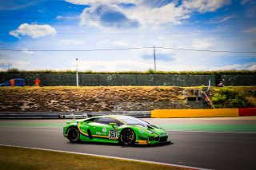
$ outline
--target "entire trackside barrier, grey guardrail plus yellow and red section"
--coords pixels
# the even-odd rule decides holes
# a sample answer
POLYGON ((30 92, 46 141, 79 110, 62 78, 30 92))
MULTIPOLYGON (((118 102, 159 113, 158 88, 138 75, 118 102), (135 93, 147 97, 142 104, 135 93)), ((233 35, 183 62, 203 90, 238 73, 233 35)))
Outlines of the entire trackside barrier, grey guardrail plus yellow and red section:
POLYGON ((120 112, 0 112, 0 119, 59 119, 82 118, 83 115, 96 117, 101 115, 126 115, 138 118, 181 118, 181 117, 246 117, 256 116, 256 108, 242 109, 161 109, 153 111, 120 112))

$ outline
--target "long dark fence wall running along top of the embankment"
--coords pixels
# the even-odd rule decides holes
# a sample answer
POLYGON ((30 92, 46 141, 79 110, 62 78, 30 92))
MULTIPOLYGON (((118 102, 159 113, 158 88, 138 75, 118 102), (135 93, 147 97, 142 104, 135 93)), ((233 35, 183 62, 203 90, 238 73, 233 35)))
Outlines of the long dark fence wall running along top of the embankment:
MULTIPOLYGON (((34 85, 39 78, 41 85, 76 85, 76 75, 70 73, 0 73, 0 82, 11 78, 25 78, 27 85, 34 85)), ((225 85, 256 85, 256 75, 174 75, 174 74, 79 74, 79 85, 166 85, 198 86, 216 85, 225 79, 225 85)))

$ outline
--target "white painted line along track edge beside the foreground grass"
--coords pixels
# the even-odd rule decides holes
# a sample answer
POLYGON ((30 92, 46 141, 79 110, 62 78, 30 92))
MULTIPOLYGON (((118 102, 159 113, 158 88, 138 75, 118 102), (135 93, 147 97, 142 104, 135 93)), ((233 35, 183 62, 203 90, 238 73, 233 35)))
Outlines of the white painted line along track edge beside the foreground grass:
POLYGON ((179 168, 192 168, 192 169, 202 169, 202 170, 208 170, 206 168, 198 168, 198 167, 190 167, 190 166, 184 166, 180 164, 167 164, 162 162, 154 162, 150 160, 135 160, 130 158, 123 158, 123 157, 116 157, 116 156, 102 156, 102 155, 96 155, 96 154, 90 154, 90 153, 82 153, 82 152, 69 152, 69 151, 61 151, 61 150, 54 150, 49 148, 31 148, 26 146, 14 146, 14 145, 8 145, 8 144, 0 144, 0 146, 8 146, 8 147, 14 147, 14 148, 30 148, 30 149, 36 149, 36 150, 42 150, 42 151, 52 151, 52 152, 64 152, 64 153, 71 153, 71 154, 77 154, 77 155, 83 155, 83 156, 97 156, 97 157, 104 157, 104 158, 112 158, 116 160, 130 160, 130 161, 136 161, 136 162, 143 162, 148 164, 161 164, 166 166, 173 166, 173 167, 179 167, 179 168))

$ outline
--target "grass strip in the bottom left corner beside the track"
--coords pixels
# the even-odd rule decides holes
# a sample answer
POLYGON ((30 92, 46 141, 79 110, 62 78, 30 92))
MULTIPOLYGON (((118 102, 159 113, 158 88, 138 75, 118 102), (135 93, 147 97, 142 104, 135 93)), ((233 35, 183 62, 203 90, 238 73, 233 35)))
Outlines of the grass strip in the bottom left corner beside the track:
POLYGON ((83 156, 65 152, 0 146, 0 167, 9 169, 185 169, 160 164, 118 160, 99 156, 83 156))

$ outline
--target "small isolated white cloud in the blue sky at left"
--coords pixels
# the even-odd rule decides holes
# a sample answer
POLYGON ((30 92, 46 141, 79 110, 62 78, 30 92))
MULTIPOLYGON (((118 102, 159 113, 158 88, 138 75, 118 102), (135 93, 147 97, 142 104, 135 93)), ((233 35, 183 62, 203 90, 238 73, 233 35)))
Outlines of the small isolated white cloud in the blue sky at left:
POLYGON ((57 31, 49 25, 27 24, 18 26, 17 30, 10 31, 10 35, 20 38, 20 35, 28 35, 32 38, 40 38, 47 35, 54 35, 57 31))

